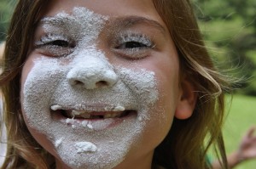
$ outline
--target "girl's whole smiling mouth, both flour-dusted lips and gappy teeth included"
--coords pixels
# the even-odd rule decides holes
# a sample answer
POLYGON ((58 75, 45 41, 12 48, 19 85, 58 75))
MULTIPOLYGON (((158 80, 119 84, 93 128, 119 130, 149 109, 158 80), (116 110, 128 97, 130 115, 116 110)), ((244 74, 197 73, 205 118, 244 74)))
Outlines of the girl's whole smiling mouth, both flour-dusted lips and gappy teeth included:
POLYGON ((125 110, 123 106, 73 106, 65 107, 54 104, 50 112, 55 121, 83 127, 104 129, 125 120, 137 118, 137 110, 125 110), (100 127, 101 126, 101 127, 100 127))

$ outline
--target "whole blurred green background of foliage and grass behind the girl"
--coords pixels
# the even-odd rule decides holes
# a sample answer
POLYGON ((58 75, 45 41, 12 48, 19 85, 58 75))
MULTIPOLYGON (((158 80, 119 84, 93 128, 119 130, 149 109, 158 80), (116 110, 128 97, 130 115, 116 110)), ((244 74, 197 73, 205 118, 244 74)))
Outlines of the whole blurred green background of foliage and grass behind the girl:
MULTIPOLYGON (((233 98, 227 94, 224 141, 229 154, 247 129, 256 125, 256 0, 191 1, 212 59, 220 70, 243 79, 233 98)), ((14 4, 0 0, 0 42, 6 37, 14 4)), ((253 168, 256 159, 236 167, 253 168)))

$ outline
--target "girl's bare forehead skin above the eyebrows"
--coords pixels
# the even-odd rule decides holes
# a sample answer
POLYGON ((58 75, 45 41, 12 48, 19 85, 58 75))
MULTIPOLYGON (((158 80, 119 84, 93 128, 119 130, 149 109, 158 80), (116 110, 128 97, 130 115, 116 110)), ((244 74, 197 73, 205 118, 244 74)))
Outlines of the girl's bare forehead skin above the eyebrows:
MULTIPOLYGON (((55 16, 61 12, 72 14, 73 8, 78 7, 88 8, 95 14, 101 14, 109 18, 131 15, 140 16, 155 20, 163 27, 166 27, 154 8, 152 0, 54 0, 47 5, 43 17, 55 16)), ((95 17, 95 15, 91 15, 91 17, 95 17)))

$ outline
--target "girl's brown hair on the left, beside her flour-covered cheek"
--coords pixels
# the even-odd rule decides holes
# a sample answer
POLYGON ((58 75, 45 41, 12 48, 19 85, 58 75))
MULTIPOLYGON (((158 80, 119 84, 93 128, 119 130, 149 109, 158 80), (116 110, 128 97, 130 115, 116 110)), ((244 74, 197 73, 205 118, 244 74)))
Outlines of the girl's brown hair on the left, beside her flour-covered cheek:
POLYGON ((47 1, 20 1, 9 25, 0 77, 8 140, 3 168, 48 168, 46 153, 28 132, 20 112, 20 73, 36 27, 35 21, 45 4, 47 1))

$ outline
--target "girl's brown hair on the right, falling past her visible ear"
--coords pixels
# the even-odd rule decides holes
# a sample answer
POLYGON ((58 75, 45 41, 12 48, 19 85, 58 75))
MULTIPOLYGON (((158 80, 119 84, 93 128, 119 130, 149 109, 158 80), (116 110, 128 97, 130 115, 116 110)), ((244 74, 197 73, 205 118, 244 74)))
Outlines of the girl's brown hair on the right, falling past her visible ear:
POLYGON ((182 72, 198 94, 193 115, 188 120, 174 119, 155 150, 154 161, 167 168, 209 168, 207 150, 213 144, 222 167, 228 168, 221 128, 229 83, 212 64, 189 0, 154 0, 154 5, 171 33, 182 72))

